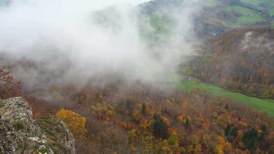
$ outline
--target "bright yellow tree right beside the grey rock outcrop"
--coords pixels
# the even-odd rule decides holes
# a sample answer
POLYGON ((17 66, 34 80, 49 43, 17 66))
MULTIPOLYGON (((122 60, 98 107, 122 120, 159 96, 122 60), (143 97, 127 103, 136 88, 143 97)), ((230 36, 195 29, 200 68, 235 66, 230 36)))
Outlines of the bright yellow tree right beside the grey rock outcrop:
POLYGON ((81 138, 86 134, 86 118, 82 115, 68 109, 60 109, 56 113, 56 117, 66 123, 74 137, 81 138))

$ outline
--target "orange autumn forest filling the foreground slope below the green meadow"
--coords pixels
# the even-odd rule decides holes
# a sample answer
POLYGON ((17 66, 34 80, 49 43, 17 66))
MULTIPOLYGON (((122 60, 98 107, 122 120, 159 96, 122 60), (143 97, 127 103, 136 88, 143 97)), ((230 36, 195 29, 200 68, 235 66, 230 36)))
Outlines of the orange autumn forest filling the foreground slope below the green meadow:
POLYGON ((27 96, 5 69, 1 81, 1 98, 22 96, 36 120, 56 114, 66 122, 77 153, 274 152, 273 119, 202 89, 188 94, 120 80, 104 88, 52 87, 59 101, 46 102, 27 96))

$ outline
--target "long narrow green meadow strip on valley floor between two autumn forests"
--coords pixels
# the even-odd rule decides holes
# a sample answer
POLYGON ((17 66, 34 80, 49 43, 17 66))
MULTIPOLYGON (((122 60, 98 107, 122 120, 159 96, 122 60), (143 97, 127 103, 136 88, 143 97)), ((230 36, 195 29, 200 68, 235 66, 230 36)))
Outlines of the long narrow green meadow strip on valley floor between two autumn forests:
POLYGON ((268 113, 269 117, 274 117, 274 100, 273 99, 259 99, 255 97, 249 97, 241 93, 234 93, 222 88, 204 84, 196 81, 179 81, 178 79, 173 79, 173 83, 180 89, 190 92, 195 88, 202 88, 208 93, 218 96, 224 96, 230 98, 233 102, 252 107, 260 112, 268 113))

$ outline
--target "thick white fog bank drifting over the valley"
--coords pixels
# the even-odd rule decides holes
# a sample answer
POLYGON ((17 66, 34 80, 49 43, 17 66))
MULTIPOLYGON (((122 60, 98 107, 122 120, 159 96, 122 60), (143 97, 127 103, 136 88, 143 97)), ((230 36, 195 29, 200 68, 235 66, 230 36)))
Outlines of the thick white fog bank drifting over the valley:
POLYGON ((30 89, 45 81, 49 82, 45 85, 86 84, 94 76, 101 79, 111 72, 130 80, 152 80, 155 74, 176 69, 182 54, 190 51, 184 38, 192 29, 191 15, 198 1, 186 1, 178 12, 170 14, 180 26, 174 28, 176 35, 170 37, 170 45, 180 46, 180 51, 153 51, 157 58, 140 36, 138 19, 130 14, 132 6, 118 5, 106 11, 112 21, 108 26, 97 24, 92 16, 106 6, 141 2, 144 1, 15 1, 0 10, 0 52, 46 62, 44 67, 57 73, 57 78, 51 79, 47 75, 54 73, 15 70, 15 76, 30 89))

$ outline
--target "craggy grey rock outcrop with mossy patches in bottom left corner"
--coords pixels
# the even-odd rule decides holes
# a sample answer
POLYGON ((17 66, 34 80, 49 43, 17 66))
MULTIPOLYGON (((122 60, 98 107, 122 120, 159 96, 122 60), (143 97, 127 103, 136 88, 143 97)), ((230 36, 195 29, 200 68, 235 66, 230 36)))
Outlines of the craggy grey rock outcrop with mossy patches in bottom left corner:
POLYGON ((74 137, 55 117, 33 120, 21 97, 0 100, 0 154, 76 153, 74 137))

